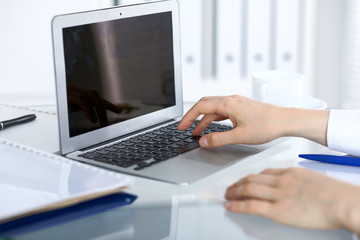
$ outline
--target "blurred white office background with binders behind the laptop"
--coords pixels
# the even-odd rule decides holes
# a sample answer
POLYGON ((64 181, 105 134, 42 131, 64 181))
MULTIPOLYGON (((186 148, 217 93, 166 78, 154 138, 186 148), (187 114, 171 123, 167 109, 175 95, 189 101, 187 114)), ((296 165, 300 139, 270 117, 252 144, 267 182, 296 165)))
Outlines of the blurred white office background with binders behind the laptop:
MULTIPOLYGON (((2 0, 0 103, 55 104, 51 19, 149 0, 2 0)), ((297 71, 329 108, 360 109, 360 1, 179 0, 184 100, 251 96, 251 74, 297 71)))

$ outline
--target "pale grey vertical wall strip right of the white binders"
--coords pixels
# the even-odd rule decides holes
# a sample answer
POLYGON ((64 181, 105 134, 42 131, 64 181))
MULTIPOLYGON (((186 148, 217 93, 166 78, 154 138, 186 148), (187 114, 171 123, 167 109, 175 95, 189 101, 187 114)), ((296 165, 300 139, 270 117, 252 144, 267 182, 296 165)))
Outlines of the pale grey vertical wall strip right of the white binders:
POLYGON ((314 89, 330 108, 341 106, 346 2, 319 0, 318 5, 314 89))

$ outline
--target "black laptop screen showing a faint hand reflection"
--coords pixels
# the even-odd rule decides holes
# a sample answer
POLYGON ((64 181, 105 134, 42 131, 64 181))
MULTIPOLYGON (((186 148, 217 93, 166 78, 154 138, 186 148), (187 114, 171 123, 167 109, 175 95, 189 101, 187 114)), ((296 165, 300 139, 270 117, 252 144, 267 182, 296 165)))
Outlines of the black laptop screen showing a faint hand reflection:
POLYGON ((175 105, 171 12, 63 29, 70 136, 175 105))

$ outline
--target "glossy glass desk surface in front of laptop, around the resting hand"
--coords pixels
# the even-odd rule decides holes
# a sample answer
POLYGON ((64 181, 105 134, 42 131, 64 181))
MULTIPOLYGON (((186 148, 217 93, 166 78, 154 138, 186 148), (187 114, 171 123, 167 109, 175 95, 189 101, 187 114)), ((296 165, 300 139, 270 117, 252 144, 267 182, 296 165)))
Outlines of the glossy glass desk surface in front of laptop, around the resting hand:
MULTIPOLYGON (((265 150, 243 159, 189 186, 133 177, 126 192, 138 199, 130 206, 21 232, 10 239, 356 239, 346 230, 303 230, 251 215, 226 211, 222 196, 230 184, 265 168, 305 167, 360 183, 360 168, 320 164, 297 157, 326 148, 303 139, 280 139, 265 150)), ((9 239, 9 238, 6 238, 9 239)))

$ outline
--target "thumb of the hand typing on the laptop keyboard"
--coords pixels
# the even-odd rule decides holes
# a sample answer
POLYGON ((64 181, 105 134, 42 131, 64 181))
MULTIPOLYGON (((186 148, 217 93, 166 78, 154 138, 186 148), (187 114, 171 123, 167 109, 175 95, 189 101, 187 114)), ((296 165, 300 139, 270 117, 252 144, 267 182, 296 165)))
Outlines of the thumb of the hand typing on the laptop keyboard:
POLYGON ((237 134, 235 129, 226 132, 210 133, 200 138, 199 144, 203 148, 215 148, 228 144, 237 143, 237 134))

